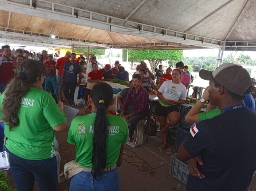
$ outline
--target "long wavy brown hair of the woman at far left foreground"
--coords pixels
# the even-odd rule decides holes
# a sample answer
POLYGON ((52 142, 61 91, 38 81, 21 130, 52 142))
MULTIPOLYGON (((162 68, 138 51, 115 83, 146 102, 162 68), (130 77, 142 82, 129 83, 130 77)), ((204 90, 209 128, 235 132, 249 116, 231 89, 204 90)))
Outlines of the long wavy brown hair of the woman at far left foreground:
POLYGON ((43 63, 29 60, 23 62, 19 70, 19 76, 15 76, 7 85, 2 103, 3 120, 9 126, 10 131, 11 128, 19 125, 18 113, 22 96, 30 90, 31 84, 45 74, 46 67, 43 63))

